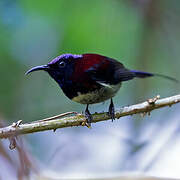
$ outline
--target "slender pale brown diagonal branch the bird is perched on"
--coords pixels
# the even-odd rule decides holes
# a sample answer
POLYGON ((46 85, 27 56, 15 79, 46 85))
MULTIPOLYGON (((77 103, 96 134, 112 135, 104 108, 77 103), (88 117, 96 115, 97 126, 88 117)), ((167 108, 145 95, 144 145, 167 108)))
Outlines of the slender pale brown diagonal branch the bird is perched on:
MULTIPOLYGON (((165 106, 172 106, 173 104, 180 102, 180 95, 171 96, 168 98, 159 99, 159 96, 149 99, 143 103, 131 105, 127 107, 120 108, 115 112, 115 117, 120 118, 123 116, 133 115, 137 113, 150 113, 154 109, 159 109, 165 106)), ((99 121, 109 120, 110 117, 107 112, 95 113, 93 116, 93 123, 99 121)), ((57 118, 49 120, 40 120, 32 123, 20 124, 21 121, 14 123, 11 126, 0 128, 0 138, 11 138, 14 136, 22 134, 30 134, 34 132, 46 131, 46 130, 56 130, 58 128, 81 126, 85 122, 84 115, 77 114, 75 116, 57 118)))

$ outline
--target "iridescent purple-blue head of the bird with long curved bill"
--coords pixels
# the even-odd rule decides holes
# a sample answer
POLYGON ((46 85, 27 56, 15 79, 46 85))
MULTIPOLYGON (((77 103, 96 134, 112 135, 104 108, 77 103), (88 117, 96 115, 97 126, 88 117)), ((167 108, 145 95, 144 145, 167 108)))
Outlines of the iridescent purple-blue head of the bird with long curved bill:
POLYGON ((73 54, 63 54, 52 61, 47 65, 41 65, 31 68, 26 72, 29 74, 34 71, 44 70, 49 73, 49 75, 54 78, 58 83, 62 83, 67 76, 70 76, 73 71, 74 61, 82 58, 82 55, 73 55, 73 54))

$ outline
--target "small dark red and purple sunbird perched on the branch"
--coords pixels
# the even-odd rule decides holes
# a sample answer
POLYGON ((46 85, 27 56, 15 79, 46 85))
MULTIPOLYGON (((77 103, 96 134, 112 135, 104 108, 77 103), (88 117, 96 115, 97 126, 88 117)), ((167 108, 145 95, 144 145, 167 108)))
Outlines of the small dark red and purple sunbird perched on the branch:
POLYGON ((120 89, 123 81, 151 76, 177 81, 161 74, 129 70, 119 61, 98 54, 63 54, 47 65, 33 67, 26 74, 39 70, 48 72, 69 99, 86 104, 85 116, 88 124, 92 121, 88 105, 108 99, 111 99, 109 115, 112 120, 115 119, 112 98, 120 89))

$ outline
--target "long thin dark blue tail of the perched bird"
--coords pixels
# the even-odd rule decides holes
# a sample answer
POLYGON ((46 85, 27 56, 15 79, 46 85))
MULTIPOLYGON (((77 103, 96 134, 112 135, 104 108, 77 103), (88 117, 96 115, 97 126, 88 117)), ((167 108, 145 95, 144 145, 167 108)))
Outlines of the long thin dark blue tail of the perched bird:
POLYGON ((162 78, 174 81, 176 83, 179 82, 177 79, 175 79, 173 77, 170 77, 170 76, 163 75, 163 74, 142 72, 142 71, 137 71, 137 70, 131 70, 131 72, 134 73, 135 77, 138 77, 138 78, 146 78, 146 77, 152 77, 152 76, 159 76, 159 77, 162 77, 162 78))

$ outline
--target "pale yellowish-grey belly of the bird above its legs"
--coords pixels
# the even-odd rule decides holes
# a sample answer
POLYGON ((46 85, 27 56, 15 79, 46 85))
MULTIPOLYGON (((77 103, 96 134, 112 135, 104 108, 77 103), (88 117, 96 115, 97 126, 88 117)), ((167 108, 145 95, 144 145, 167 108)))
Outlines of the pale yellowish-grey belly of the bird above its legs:
POLYGON ((102 88, 87 94, 78 93, 72 100, 81 104, 95 104, 106 101, 116 95, 121 83, 117 85, 102 84, 102 88))

